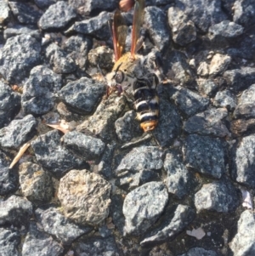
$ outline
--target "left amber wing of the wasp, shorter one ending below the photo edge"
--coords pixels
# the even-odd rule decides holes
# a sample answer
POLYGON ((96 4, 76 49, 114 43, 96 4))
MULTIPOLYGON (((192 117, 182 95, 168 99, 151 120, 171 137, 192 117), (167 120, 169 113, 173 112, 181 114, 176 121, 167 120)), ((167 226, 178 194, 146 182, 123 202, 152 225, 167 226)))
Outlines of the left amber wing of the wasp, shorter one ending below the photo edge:
POLYGON ((110 23, 111 36, 113 39, 114 55, 115 60, 119 60, 125 49, 126 38, 127 38, 127 25, 121 14, 117 9, 113 21, 110 23))

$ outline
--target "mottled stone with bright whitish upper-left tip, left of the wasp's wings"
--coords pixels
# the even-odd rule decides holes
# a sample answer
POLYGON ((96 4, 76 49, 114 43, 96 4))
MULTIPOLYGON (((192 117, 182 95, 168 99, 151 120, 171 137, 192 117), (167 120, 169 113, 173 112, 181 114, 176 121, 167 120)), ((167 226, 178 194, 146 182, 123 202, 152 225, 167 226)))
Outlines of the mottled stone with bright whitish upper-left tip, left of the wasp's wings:
POLYGON ((55 73, 71 73, 77 69, 75 61, 62 48, 59 48, 56 43, 51 43, 46 48, 45 55, 55 73))

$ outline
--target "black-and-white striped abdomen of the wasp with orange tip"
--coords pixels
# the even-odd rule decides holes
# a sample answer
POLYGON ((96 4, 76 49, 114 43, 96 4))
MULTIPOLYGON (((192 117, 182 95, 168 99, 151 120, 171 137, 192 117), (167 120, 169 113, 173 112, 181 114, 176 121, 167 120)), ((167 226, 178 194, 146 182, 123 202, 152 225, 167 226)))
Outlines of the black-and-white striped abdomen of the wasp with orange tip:
POLYGON ((156 84, 150 85, 147 80, 139 79, 133 84, 134 105, 140 126, 144 132, 156 128, 159 116, 159 98, 156 93, 156 84))

